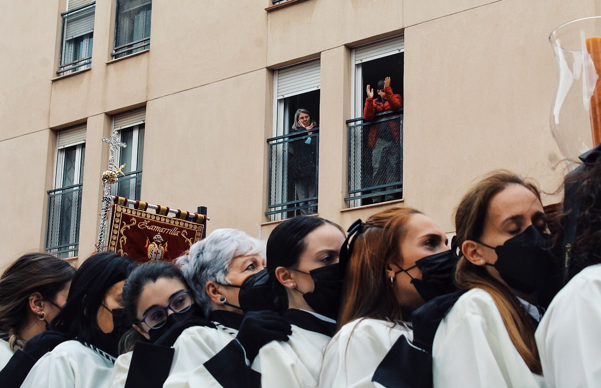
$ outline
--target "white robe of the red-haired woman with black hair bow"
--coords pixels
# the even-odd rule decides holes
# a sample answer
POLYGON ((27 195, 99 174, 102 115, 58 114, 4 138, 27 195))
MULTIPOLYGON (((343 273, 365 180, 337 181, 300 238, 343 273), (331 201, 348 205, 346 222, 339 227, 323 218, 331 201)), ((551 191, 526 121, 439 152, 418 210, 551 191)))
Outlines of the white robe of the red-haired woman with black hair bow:
POLYGON ((320 388, 381 387, 374 372, 400 336, 412 341, 407 326, 360 318, 341 327, 326 347, 320 388))

